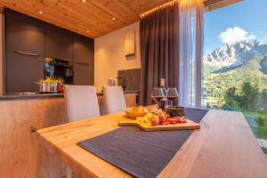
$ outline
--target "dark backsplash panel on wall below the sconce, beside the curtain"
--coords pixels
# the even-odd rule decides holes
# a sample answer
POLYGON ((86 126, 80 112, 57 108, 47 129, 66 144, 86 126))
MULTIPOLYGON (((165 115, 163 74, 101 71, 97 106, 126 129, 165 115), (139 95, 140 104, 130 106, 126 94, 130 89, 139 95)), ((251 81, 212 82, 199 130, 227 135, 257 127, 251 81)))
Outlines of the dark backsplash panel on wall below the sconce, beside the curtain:
MULTIPOLYGON (((140 91, 141 69, 118 70, 117 77, 125 77, 126 90, 140 91)), ((122 79, 117 80, 117 85, 122 83, 122 79)))

